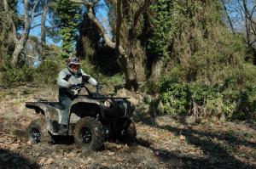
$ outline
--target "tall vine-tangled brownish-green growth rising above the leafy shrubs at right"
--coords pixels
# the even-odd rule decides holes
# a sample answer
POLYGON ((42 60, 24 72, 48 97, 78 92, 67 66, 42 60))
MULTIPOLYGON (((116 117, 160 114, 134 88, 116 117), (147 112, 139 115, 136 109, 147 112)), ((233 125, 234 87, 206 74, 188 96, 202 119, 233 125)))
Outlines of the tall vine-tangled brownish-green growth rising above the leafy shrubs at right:
POLYGON ((151 8, 155 28, 150 48, 172 66, 168 74, 214 85, 242 71, 242 38, 222 23, 217 0, 157 0, 151 8))

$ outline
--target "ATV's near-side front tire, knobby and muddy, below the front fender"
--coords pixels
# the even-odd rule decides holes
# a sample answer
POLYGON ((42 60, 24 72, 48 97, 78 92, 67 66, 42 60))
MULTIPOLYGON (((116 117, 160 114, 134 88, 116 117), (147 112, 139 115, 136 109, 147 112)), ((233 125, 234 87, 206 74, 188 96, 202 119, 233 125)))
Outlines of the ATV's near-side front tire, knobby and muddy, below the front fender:
POLYGON ((102 123, 92 117, 80 119, 74 129, 74 140, 81 149, 96 150, 102 148, 104 140, 102 123))

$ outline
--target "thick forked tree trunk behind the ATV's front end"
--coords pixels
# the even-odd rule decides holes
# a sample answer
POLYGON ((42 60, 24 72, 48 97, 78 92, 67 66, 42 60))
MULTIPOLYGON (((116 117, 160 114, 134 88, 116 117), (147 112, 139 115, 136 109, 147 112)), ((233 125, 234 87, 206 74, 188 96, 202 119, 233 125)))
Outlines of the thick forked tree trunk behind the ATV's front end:
MULTIPOLYGON (((145 80, 145 65, 146 65, 146 52, 143 46, 143 40, 138 40, 141 36, 136 35, 136 26, 138 20, 145 11, 145 8, 148 8, 149 1, 145 0, 143 6, 136 3, 137 9, 136 13, 130 17, 130 20, 123 20, 125 12, 123 11, 124 1, 114 0, 113 3, 116 4, 116 26, 115 30, 115 42, 108 36, 107 31, 105 30, 102 23, 96 19, 95 14, 93 13, 94 7, 98 0, 89 1, 89 0, 70 0, 73 3, 84 3, 84 6, 87 8, 87 14, 89 19, 96 25, 97 30, 101 33, 104 41, 108 48, 113 48, 116 50, 117 55, 119 55, 119 65, 121 66, 125 74, 125 87, 128 89, 138 89, 138 80, 145 80), (125 23, 125 25, 123 24, 125 23), (129 24, 126 24, 129 23, 129 24), (129 29, 130 28, 130 29, 129 29)), ((129 3, 130 4, 130 3, 129 3)), ((141 32, 140 32, 141 33, 141 32)))

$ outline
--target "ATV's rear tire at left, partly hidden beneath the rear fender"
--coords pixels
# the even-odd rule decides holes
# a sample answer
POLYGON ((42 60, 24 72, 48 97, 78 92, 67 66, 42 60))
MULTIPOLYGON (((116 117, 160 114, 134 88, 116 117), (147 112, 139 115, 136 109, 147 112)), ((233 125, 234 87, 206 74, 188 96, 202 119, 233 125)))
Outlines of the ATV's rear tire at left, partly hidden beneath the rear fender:
POLYGON ((53 141, 47 130, 46 121, 43 118, 36 119, 29 124, 26 130, 26 136, 28 141, 31 141, 32 144, 38 144, 42 142, 49 143, 53 141))

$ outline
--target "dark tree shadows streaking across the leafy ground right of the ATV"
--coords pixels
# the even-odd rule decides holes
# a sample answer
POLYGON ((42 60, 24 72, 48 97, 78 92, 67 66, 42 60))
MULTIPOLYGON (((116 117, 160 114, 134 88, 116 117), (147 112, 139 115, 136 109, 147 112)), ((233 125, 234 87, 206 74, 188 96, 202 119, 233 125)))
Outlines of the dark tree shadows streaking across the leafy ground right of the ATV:
MULTIPOLYGON (((160 161, 166 162, 167 164, 171 164, 168 161, 182 161, 181 163, 183 163, 183 168, 256 168, 256 166, 253 166, 252 164, 248 164, 237 159, 229 152, 230 150, 227 150, 225 147, 226 144, 221 144, 225 142, 229 144, 233 151, 235 151, 239 145, 244 145, 256 149, 255 143, 237 138, 229 132, 214 133, 211 131, 197 131, 186 124, 182 119, 180 119, 179 122, 185 126, 183 129, 172 127, 170 125, 162 127, 154 122, 152 123, 152 121, 144 121, 143 124, 150 127, 166 129, 169 132, 175 134, 177 137, 180 136, 182 130, 182 134, 186 137, 186 143, 193 144, 200 148, 205 155, 204 158, 188 157, 184 156, 182 153, 178 154, 177 152, 172 152, 166 149, 154 149, 150 146, 150 143, 143 139, 137 140, 138 144, 148 149, 152 149, 154 152, 157 152, 155 154, 158 156, 160 161), (218 142, 214 140, 218 140, 218 142)), ((172 167, 172 165, 169 167, 172 167)))

